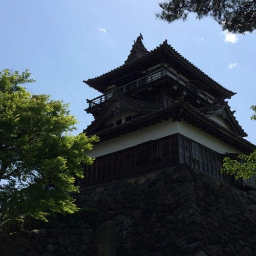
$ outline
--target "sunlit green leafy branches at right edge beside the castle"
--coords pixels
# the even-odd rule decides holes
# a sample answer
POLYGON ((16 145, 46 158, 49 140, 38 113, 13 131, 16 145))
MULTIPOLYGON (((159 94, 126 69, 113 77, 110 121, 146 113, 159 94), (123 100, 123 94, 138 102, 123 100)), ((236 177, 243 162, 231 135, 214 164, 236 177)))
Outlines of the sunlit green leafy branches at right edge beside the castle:
MULTIPOLYGON (((256 105, 252 105, 251 109, 254 111, 254 114, 251 116, 251 120, 256 120, 256 105)), ((234 174, 236 175, 236 179, 248 179, 252 175, 256 174, 256 150, 254 150, 249 156, 241 154, 238 158, 242 160, 242 163, 237 160, 231 160, 229 157, 225 157, 221 173, 230 175, 234 174)))

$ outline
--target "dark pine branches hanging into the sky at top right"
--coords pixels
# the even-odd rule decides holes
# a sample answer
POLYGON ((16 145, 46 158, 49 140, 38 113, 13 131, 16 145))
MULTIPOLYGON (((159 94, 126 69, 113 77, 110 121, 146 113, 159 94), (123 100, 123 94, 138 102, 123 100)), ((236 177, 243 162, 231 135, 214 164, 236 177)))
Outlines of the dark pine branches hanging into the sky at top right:
POLYGON ((159 3, 162 8, 156 16, 168 23, 187 19, 190 12, 201 19, 214 18, 223 28, 233 33, 256 29, 256 1, 254 0, 169 0, 159 3))

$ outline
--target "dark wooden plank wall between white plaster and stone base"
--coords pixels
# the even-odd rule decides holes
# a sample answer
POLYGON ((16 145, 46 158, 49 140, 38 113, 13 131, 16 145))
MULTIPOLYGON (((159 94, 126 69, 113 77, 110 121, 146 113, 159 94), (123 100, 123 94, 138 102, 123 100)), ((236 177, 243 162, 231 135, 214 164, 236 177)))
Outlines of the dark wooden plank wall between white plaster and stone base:
MULTIPOLYGON (((186 163, 228 183, 238 184, 233 176, 220 174, 223 157, 196 141, 175 134, 97 157, 92 165, 84 166, 84 178, 79 185, 114 181, 179 163, 186 163)), ((243 184, 256 188, 256 178, 252 177, 243 184)))

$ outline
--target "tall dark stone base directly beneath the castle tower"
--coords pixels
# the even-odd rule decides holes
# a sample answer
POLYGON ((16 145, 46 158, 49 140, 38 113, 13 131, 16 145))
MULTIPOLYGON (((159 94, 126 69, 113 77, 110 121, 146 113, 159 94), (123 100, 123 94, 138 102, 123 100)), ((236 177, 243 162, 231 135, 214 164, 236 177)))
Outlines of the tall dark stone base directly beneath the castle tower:
POLYGON ((256 196, 180 165, 83 188, 117 227, 117 255, 255 255, 256 196))

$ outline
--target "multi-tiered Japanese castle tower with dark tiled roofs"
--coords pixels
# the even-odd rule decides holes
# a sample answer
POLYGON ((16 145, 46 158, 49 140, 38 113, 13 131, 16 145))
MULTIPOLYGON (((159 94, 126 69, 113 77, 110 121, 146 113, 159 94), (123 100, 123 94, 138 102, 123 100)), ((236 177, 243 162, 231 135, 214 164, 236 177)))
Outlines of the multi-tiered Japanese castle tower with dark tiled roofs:
MULTIPOLYGON (((249 154, 256 146, 244 139, 225 99, 234 92, 222 87, 167 40, 152 51, 134 41, 124 64, 83 81, 101 93, 87 99, 95 120, 84 132, 100 142, 90 155, 80 185, 114 181, 141 172, 186 163, 234 183, 221 175, 225 156, 249 154)), ((243 181, 256 188, 256 179, 243 181)))

